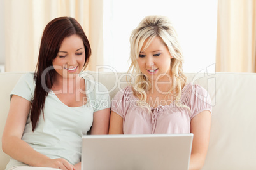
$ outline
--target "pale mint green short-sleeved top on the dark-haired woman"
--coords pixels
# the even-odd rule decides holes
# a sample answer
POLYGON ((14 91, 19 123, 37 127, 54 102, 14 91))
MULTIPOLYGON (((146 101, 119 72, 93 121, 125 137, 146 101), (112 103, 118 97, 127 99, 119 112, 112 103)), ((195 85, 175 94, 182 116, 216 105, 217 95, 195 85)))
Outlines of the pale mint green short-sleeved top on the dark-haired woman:
MULTIPOLYGON (((23 75, 11 95, 18 95, 32 101, 35 88, 33 77, 34 73, 23 75)), ((94 112, 110 108, 108 89, 88 77, 83 79, 85 79, 87 95, 85 105, 68 107, 53 91, 50 91, 45 100, 44 118, 41 114, 38 125, 32 132, 31 119, 27 117, 22 136, 22 140, 41 154, 52 159, 64 158, 73 165, 81 161, 82 135, 86 135, 90 130, 94 112)), ((14 166, 27 165, 11 159, 6 169, 14 166)))

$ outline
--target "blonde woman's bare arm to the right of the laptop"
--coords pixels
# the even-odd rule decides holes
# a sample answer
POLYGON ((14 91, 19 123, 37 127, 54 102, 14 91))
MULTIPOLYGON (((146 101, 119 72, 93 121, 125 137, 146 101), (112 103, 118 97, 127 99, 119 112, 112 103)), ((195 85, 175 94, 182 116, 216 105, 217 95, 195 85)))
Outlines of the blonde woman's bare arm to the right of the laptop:
POLYGON ((194 134, 189 169, 201 169, 206 158, 210 139, 211 112, 203 111, 191 121, 191 133, 194 134))

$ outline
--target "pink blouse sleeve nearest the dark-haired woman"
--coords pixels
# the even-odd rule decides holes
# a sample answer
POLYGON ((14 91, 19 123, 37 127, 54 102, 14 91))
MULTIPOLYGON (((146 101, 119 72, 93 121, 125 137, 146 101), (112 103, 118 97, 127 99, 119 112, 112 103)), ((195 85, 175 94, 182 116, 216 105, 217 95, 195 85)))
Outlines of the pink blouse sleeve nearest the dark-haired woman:
POLYGON ((125 87, 118 91, 111 102, 111 111, 116 112, 123 118, 129 107, 129 89, 129 87, 125 87))

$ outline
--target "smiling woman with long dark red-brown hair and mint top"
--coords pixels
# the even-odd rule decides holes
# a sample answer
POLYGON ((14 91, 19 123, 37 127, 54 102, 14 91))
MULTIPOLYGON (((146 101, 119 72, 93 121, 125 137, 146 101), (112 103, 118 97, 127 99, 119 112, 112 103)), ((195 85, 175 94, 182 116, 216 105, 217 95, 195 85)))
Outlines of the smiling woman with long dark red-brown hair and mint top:
POLYGON ((82 135, 108 134, 108 91, 80 75, 90 55, 74 18, 46 25, 36 72, 22 76, 11 92, 3 133, 3 151, 11 157, 6 169, 81 169, 82 135), (97 94, 96 86, 106 93, 97 94))

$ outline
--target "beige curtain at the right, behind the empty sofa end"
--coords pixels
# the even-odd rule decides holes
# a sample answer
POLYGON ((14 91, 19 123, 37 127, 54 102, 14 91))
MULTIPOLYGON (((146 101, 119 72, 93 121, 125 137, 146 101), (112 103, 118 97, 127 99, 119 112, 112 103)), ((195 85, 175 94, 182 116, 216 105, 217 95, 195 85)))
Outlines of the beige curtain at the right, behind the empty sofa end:
POLYGON ((256 72, 256 1, 218 0, 217 72, 256 72))

